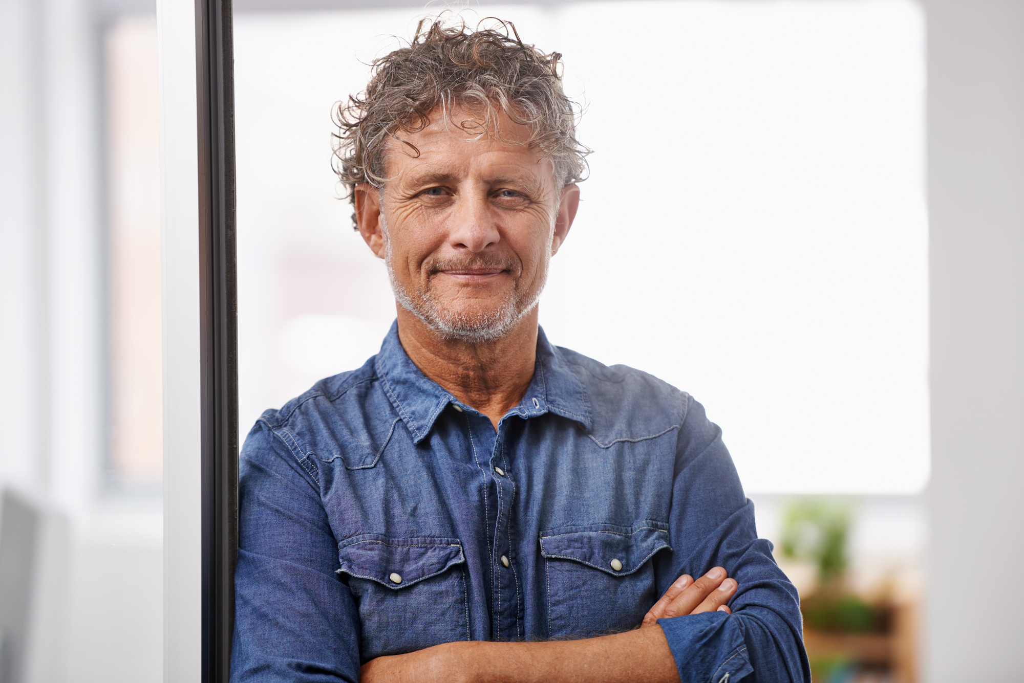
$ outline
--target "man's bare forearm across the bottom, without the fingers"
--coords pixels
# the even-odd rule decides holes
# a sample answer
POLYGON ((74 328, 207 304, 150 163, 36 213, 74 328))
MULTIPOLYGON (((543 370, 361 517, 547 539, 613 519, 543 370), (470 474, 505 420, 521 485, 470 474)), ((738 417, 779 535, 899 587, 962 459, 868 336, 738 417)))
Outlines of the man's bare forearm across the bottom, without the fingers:
POLYGON ((364 683, 678 683, 665 634, 651 627, 585 640, 456 642, 362 668, 364 683))

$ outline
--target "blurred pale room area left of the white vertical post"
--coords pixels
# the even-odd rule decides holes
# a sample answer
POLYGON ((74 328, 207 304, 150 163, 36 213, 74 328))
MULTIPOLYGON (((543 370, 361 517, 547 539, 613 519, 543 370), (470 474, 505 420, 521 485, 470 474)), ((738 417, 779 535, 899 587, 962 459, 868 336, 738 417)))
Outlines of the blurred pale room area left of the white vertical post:
POLYGON ((0 681, 160 681, 152 0, 0 2, 0 681))

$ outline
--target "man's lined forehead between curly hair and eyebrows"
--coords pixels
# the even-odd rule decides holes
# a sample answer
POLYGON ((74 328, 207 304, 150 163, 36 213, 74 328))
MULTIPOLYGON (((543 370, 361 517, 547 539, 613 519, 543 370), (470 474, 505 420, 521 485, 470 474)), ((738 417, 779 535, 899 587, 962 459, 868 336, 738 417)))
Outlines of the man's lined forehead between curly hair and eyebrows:
POLYGON ((434 110, 423 130, 399 132, 400 140, 389 137, 385 143, 388 176, 410 180, 426 175, 475 175, 483 178, 551 176, 549 160, 528 141, 532 131, 502 112, 488 129, 473 111, 456 108, 447 116, 434 110), (408 142, 416 147, 413 149, 408 142))

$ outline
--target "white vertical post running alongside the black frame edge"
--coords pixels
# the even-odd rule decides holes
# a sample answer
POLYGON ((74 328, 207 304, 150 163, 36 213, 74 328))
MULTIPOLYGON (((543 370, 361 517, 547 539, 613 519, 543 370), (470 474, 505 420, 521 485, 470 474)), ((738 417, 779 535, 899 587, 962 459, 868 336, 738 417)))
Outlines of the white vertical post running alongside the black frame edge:
POLYGON ((164 321, 164 681, 202 678, 196 9, 157 1, 164 321))

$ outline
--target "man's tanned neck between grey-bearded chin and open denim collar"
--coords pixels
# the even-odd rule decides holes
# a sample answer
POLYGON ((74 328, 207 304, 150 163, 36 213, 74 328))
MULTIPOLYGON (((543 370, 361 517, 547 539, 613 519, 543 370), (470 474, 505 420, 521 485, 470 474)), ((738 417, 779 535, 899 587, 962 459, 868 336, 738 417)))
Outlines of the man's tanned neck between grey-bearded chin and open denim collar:
POLYGON ((446 339, 398 306, 398 338, 423 374, 490 418, 495 429, 522 401, 537 359, 537 307, 494 342, 446 339))

